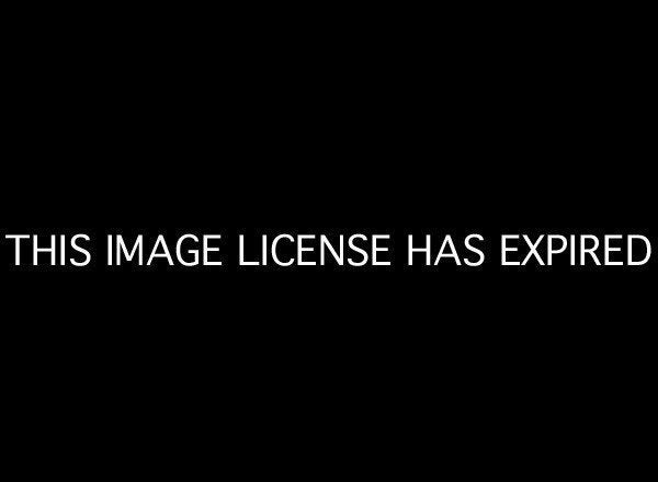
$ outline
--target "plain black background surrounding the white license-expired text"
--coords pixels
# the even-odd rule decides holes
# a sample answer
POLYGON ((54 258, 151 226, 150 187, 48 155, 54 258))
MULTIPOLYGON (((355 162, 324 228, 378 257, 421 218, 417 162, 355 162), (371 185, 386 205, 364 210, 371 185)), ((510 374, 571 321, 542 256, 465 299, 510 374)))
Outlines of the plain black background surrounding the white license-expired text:
POLYGON ((649 32, 591 12, 271 13, 33 12, 3 60, 2 233, 390 232, 396 266, 5 263, 13 452, 627 470, 651 426, 655 261, 504 269, 497 239, 655 242, 649 32), (469 232, 483 268, 404 267, 407 233, 469 232))

